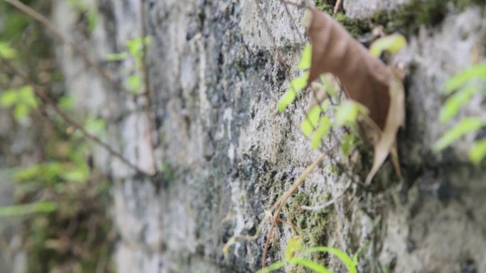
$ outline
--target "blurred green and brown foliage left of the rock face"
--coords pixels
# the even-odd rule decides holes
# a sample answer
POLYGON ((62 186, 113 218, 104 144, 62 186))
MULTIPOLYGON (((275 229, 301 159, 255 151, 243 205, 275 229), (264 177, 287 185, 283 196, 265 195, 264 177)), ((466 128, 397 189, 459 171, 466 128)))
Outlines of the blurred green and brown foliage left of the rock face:
MULTIPOLYGON (((50 13, 50 1, 23 3, 50 13)), ((69 4, 92 31, 96 13, 82 3, 70 0, 69 4)), ((41 84, 72 115, 76 102, 67 96, 68 84, 63 82, 53 49, 53 40, 43 26, 0 1, 0 55, 41 84)), ((2 122, 10 125, 9 132, 2 135, 8 134, 11 141, 22 140, 17 152, 11 152, 14 143, 0 141, 0 152, 6 155, 2 164, 10 166, 0 170, 1 176, 13 182, 16 203, 0 207, 0 221, 21 217, 28 273, 114 272, 115 235, 107 216, 109 182, 93 169, 90 145, 82 135, 54 116, 24 84, 0 67, 0 111, 9 113, 2 122)), ((95 116, 77 118, 90 133, 104 136, 106 121, 95 116)))

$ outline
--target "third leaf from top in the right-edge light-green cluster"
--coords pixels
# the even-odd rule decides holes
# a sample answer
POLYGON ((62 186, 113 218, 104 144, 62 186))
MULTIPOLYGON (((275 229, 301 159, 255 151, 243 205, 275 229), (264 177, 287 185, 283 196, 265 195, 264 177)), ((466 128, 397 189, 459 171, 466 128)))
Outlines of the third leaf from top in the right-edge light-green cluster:
POLYGON ((453 128, 450 128, 437 142, 433 145, 433 150, 439 152, 448 147, 455 140, 458 140, 463 135, 473 132, 485 126, 485 121, 480 117, 463 118, 453 128))

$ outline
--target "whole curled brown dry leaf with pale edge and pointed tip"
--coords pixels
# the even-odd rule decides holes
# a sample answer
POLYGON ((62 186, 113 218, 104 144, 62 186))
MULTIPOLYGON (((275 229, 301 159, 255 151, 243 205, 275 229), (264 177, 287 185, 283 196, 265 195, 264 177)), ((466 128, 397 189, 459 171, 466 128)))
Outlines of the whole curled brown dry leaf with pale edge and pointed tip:
MULTIPOLYGON (((387 159, 394 147, 396 132, 404 125, 404 87, 392 72, 328 14, 308 6, 303 18, 311 37, 312 57, 308 83, 320 74, 335 74, 350 99, 366 106, 369 118, 362 124, 374 145, 373 166, 366 182, 387 159)), ((397 169, 399 172, 399 169, 397 169)))

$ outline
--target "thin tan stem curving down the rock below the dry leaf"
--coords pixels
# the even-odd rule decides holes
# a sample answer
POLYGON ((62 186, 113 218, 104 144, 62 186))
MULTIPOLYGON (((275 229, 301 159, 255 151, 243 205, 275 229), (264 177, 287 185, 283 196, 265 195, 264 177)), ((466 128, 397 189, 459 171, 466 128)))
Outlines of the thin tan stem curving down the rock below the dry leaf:
POLYGON ((269 230, 269 235, 266 237, 266 242, 265 242, 265 247, 264 247, 264 252, 263 252, 263 257, 261 258, 261 269, 264 269, 266 267, 266 255, 269 250, 269 245, 270 245, 270 240, 272 237, 272 233, 274 232, 274 228, 276 225, 276 222, 279 220, 279 214, 284 207, 284 204, 286 201, 292 196, 293 192, 298 189, 301 184, 306 181, 306 178, 308 177, 309 174, 311 174, 314 169, 320 164, 320 162, 323 162, 325 157, 328 155, 328 152, 323 153, 316 159, 309 167, 307 167, 302 174, 296 179, 295 182, 293 182, 292 186, 284 193, 283 196, 279 200, 277 200, 274 204, 274 206, 271 207, 270 211, 273 211, 276 206, 279 206, 275 213, 274 213, 274 219, 271 221, 271 226, 269 230))

